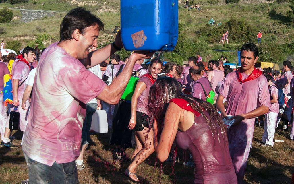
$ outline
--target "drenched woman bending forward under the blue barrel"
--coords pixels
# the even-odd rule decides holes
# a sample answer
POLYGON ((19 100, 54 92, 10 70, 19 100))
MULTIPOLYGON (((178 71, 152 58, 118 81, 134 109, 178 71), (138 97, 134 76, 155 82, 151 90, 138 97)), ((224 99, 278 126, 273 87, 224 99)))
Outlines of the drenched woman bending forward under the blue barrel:
POLYGON ((161 161, 174 140, 189 149, 194 160, 194 183, 235 184, 226 130, 210 103, 184 95, 176 79, 159 78, 150 88, 148 109, 154 118, 154 148, 161 161))

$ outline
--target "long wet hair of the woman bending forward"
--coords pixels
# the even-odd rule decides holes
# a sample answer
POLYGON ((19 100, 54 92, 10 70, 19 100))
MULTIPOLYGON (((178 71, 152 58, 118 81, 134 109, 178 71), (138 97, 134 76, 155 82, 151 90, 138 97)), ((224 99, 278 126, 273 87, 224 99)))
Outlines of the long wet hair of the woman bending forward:
POLYGON ((161 77, 155 81, 150 88, 148 110, 152 112, 152 116, 156 119, 158 127, 161 132, 164 126, 164 116, 166 108, 172 98, 181 98, 186 100, 192 109, 198 111, 206 120, 209 129, 215 139, 214 132, 219 138, 218 127, 220 128, 223 139, 226 137, 226 129, 220 118, 220 115, 216 111, 216 108, 206 101, 194 98, 191 95, 184 95, 181 86, 176 79, 171 77, 161 77), (209 114, 209 117, 207 116, 209 114))

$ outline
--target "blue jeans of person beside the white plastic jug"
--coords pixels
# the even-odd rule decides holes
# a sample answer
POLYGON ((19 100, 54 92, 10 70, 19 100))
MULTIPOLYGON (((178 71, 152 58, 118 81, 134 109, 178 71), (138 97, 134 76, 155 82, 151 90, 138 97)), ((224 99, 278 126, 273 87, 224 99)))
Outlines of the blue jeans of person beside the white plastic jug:
POLYGON ((96 112, 97 103, 87 103, 86 106, 86 117, 83 122, 82 129, 82 145, 89 144, 90 142, 90 128, 92 125, 92 116, 96 112))

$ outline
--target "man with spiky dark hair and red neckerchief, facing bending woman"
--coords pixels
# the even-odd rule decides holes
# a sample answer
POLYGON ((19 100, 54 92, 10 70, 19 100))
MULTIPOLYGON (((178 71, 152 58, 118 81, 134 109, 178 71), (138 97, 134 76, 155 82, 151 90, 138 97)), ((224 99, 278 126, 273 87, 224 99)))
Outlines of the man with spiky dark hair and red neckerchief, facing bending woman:
POLYGON ((262 72, 254 68, 257 59, 257 46, 244 44, 241 48, 241 67, 226 76, 216 102, 222 118, 232 115, 235 119, 228 130, 228 141, 238 184, 243 182, 255 117, 267 113, 270 107, 268 82, 262 72), (224 98, 227 99, 227 109, 223 105, 224 98))

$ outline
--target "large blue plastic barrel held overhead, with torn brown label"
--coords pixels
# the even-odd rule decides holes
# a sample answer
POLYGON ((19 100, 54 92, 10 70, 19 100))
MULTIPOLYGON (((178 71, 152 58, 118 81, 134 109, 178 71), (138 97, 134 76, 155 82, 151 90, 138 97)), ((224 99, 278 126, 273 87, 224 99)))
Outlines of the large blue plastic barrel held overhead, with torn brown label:
POLYGON ((127 51, 172 51, 178 40, 178 0, 121 0, 127 51))

